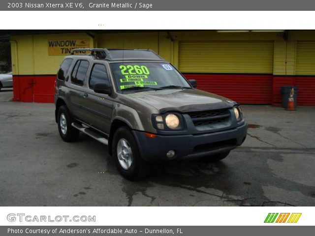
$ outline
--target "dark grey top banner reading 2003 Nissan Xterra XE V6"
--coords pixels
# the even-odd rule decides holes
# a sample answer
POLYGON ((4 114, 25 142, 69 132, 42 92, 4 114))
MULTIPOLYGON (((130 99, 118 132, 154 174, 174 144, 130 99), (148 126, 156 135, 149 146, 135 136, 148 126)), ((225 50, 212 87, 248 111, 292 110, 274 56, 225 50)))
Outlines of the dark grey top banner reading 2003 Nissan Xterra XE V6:
MULTIPOLYGON (((311 0, 7 0, 1 11, 314 11, 311 0)), ((266 17, 268 17, 266 15, 266 17)))

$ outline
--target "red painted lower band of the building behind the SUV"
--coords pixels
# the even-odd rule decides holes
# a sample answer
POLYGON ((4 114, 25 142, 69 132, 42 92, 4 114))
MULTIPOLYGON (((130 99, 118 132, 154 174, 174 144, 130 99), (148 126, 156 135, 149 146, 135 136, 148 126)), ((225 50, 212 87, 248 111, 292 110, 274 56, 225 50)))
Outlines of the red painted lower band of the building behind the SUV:
MULTIPOLYGON (((315 76, 272 76, 232 74, 184 74, 195 79, 197 88, 213 92, 243 104, 281 106, 281 86, 298 87, 297 105, 315 105, 315 76)), ((55 75, 13 75, 13 100, 54 102, 55 75)))

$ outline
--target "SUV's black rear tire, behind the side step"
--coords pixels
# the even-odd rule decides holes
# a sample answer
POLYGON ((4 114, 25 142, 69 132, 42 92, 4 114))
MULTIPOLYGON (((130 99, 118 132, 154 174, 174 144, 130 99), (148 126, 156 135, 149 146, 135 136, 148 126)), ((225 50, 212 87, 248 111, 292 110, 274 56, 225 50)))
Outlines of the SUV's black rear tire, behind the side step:
POLYGON ((58 110, 58 117, 57 117, 57 123, 58 123, 58 130, 60 137, 65 142, 74 142, 78 139, 80 131, 74 128, 71 123, 73 122, 73 118, 71 117, 71 114, 66 106, 61 106, 58 110), (65 119, 65 127, 66 129, 62 128, 61 126, 61 119, 65 119))

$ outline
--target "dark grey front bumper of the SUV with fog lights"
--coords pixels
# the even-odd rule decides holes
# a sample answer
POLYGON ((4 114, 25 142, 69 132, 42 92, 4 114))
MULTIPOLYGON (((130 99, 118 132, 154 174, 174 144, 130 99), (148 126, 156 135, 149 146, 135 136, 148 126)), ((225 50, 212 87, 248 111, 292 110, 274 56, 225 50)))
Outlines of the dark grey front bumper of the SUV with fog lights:
POLYGON ((247 124, 221 132, 199 135, 156 135, 148 138, 144 132, 132 131, 141 157, 149 162, 161 160, 197 159, 205 156, 230 151, 240 146, 247 134, 247 124), (166 152, 175 150, 172 158, 166 152))

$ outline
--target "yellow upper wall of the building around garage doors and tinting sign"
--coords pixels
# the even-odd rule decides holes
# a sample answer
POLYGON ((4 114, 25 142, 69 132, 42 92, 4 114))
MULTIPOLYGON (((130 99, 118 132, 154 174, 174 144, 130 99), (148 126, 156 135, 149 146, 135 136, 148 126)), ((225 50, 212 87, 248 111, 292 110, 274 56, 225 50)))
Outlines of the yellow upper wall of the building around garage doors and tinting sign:
MULTIPOLYGON (((288 41, 282 32, 217 32, 166 31, 161 32, 92 32, 57 33, 11 36, 13 74, 56 74, 64 56, 48 56, 48 40, 90 39, 90 47, 152 49, 162 58, 179 66, 179 43, 182 41, 271 41, 274 42, 272 63, 274 75, 295 75, 297 41, 315 41, 315 30, 289 30, 288 41)), ((239 72, 239 71, 235 71, 239 72)))

